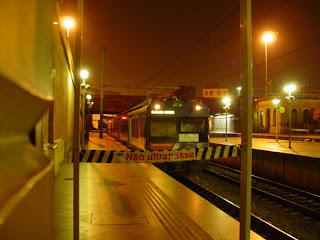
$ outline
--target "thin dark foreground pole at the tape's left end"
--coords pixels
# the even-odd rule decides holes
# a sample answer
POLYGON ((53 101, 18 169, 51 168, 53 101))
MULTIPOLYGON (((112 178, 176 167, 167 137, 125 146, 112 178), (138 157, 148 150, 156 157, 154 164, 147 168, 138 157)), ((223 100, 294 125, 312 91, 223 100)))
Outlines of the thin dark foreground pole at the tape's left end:
POLYGON ((73 239, 79 240, 79 120, 80 120, 80 69, 83 0, 78 0, 78 27, 76 29, 74 126, 73 126, 73 239))

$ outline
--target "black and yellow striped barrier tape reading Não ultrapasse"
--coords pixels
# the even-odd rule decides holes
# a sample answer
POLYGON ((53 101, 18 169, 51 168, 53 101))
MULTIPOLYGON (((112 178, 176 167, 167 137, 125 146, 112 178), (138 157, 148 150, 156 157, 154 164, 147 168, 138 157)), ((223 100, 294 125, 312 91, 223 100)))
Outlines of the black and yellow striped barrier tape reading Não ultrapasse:
POLYGON ((209 148, 156 150, 156 151, 104 151, 82 150, 80 162, 92 163, 153 163, 192 160, 210 160, 236 157, 237 146, 215 146, 209 148))

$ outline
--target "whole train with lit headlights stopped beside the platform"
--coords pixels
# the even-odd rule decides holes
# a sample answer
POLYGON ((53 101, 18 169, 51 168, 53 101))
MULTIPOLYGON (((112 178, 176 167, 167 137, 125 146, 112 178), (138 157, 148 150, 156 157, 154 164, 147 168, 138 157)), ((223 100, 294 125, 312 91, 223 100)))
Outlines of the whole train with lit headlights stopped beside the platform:
POLYGON ((107 124, 107 133, 133 150, 209 147, 209 110, 200 100, 149 98, 107 124))

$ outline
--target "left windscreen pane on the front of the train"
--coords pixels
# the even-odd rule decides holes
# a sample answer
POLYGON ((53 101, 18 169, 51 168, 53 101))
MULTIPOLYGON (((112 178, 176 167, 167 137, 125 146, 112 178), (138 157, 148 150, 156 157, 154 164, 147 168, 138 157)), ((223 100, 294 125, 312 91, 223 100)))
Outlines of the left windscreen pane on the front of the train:
POLYGON ((150 119, 151 137, 176 137, 177 122, 173 118, 152 118, 150 119))

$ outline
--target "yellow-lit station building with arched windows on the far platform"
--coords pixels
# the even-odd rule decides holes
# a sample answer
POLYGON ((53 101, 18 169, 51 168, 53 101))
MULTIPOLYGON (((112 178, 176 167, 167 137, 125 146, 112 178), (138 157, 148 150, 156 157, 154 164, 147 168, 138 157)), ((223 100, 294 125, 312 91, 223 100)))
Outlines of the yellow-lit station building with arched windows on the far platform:
MULTIPOLYGON (((292 93, 291 128, 294 133, 317 133, 320 129, 320 89, 300 88, 292 93)), ((278 133, 289 132, 289 101, 286 93, 273 94, 265 98, 254 98, 253 131, 258 133, 276 133, 276 106, 273 99, 279 99, 278 133)))

